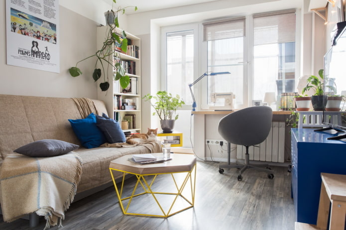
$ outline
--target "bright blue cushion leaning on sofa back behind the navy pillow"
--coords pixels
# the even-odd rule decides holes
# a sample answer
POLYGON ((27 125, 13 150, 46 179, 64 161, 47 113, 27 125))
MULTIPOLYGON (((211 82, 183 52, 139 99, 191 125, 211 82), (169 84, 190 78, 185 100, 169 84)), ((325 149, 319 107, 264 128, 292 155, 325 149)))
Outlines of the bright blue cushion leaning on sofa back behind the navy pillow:
POLYGON ((69 121, 84 147, 96 148, 107 142, 105 135, 96 125, 96 115, 94 113, 84 119, 69 119, 69 121))

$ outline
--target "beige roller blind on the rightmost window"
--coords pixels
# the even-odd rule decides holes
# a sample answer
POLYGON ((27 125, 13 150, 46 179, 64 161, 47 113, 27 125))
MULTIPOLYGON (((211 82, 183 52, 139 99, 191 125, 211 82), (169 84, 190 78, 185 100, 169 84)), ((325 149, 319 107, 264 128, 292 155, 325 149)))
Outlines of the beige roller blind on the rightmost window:
POLYGON ((294 42, 295 10, 282 10, 253 15, 254 45, 294 42))

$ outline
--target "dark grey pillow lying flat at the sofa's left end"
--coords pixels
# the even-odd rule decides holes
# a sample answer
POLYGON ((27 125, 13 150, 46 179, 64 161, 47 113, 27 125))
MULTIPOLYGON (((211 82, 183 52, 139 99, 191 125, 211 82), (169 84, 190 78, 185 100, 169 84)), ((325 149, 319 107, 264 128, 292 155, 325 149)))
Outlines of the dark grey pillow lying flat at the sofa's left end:
POLYGON ((13 152, 32 157, 58 156, 79 148, 63 140, 43 139, 23 145, 13 152))

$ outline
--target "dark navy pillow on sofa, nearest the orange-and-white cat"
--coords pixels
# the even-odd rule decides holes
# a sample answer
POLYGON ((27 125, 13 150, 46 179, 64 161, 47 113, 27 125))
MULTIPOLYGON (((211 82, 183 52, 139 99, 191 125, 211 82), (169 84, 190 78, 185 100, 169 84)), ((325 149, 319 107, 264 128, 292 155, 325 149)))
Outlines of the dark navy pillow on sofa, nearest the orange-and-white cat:
POLYGON ((102 114, 102 116, 96 115, 96 125, 104 133, 108 143, 122 143, 126 141, 125 134, 119 122, 108 117, 106 114, 102 114))

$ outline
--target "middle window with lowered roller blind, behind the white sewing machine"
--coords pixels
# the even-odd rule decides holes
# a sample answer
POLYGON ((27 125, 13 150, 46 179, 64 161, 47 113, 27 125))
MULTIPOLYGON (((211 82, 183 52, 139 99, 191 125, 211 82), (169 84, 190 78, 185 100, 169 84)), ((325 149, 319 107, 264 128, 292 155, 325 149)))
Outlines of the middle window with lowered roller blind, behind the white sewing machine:
MULTIPOLYGON (((203 24, 207 41, 207 71, 231 74, 208 76, 207 104, 211 93, 233 93, 235 104, 244 104, 244 37, 245 17, 203 24)), ((221 104, 220 104, 221 105, 221 104)))

